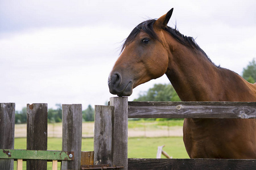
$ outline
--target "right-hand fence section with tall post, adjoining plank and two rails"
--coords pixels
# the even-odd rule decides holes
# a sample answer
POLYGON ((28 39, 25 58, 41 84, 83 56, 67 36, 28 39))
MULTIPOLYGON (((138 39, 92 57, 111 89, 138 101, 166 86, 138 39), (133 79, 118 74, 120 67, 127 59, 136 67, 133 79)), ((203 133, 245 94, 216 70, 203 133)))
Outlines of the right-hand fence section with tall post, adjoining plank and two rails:
POLYGON ((127 118, 256 118, 255 102, 128 102, 127 97, 113 97, 109 107, 96 106, 95 133, 102 142, 94 143, 94 163, 135 170, 256 167, 253 159, 128 159, 127 118))

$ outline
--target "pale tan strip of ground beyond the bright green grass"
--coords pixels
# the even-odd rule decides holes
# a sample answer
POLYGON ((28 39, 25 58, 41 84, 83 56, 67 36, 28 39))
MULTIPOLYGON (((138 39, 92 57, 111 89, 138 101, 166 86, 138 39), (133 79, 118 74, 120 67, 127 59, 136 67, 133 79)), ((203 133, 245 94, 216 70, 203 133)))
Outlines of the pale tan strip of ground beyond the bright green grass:
MULTIPOLYGON (((82 124, 82 137, 93 137, 94 122, 84 122, 82 124)), ((27 125, 15 125, 15 138, 27 136, 27 125)), ((161 127, 158 129, 151 128, 133 128, 129 129, 128 137, 182 137, 182 126, 161 127)), ((48 124, 48 137, 61 138, 62 126, 61 123, 48 124)))

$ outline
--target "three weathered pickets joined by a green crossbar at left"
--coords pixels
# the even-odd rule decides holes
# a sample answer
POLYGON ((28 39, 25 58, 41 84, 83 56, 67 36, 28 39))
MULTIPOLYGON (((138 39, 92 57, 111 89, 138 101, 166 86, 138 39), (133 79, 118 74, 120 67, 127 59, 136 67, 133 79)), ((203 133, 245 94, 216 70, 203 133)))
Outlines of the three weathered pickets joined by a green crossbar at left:
POLYGON ((82 105, 63 105, 62 151, 47 151, 47 104, 27 104, 27 150, 14 150, 15 104, 0 104, 0 169, 22 169, 27 160, 27 169, 47 169, 47 160, 52 169, 80 169, 82 135, 82 105))

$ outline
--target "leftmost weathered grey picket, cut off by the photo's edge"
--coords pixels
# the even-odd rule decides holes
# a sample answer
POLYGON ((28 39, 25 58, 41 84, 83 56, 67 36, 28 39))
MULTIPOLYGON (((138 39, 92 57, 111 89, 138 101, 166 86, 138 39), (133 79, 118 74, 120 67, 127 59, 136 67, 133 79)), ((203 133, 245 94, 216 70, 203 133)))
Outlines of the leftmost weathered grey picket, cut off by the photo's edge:
MULTIPOLYGON (((14 148, 15 103, 0 103, 0 148, 14 148)), ((13 159, 0 159, 0 169, 13 169, 13 159)))

